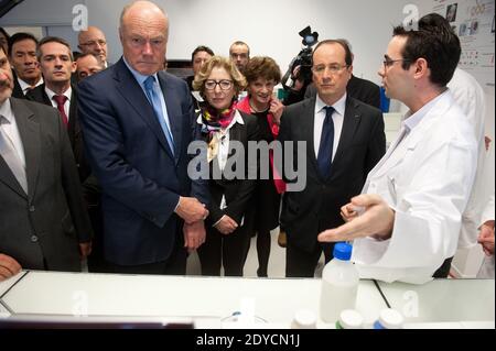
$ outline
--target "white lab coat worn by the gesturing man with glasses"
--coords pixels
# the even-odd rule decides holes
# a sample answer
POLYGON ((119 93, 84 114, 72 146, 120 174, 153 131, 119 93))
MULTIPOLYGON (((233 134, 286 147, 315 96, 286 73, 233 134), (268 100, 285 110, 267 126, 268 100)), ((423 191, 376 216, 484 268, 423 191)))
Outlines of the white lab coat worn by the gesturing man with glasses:
POLYGON ((355 240, 353 261, 360 277, 423 284, 456 251, 462 212, 474 183, 477 143, 450 91, 410 121, 419 117, 398 147, 392 143, 364 186, 363 193, 379 194, 396 215, 390 239, 355 240))

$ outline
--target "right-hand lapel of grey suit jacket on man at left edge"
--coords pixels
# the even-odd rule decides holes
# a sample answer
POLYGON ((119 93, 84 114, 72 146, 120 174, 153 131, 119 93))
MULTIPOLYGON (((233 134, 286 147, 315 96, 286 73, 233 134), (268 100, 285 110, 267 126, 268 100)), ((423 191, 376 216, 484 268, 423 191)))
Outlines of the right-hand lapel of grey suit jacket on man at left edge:
MULTIPOLYGON (((36 190, 36 179, 40 171, 40 124, 35 120, 34 113, 24 105, 12 101, 12 111, 18 123, 19 134, 25 156, 25 172, 28 179, 29 198, 34 198, 36 190)), ((21 189, 22 191, 22 189, 21 189)), ((22 191, 24 194, 24 191, 22 191)), ((24 194, 25 196, 25 194, 24 194)))

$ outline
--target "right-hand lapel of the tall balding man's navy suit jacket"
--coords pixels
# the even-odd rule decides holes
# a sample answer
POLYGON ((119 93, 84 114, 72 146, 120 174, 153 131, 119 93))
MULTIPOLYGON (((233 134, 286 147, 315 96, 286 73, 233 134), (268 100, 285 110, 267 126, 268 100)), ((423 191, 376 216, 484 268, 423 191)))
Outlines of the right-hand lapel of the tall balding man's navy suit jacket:
POLYGON ((179 98, 179 91, 168 85, 166 76, 164 73, 159 72, 159 84, 162 89, 163 98, 168 109, 169 123, 171 125, 172 138, 174 138, 174 155, 175 163, 179 162, 179 155, 181 154, 182 145, 182 114, 181 114, 181 99, 179 98))

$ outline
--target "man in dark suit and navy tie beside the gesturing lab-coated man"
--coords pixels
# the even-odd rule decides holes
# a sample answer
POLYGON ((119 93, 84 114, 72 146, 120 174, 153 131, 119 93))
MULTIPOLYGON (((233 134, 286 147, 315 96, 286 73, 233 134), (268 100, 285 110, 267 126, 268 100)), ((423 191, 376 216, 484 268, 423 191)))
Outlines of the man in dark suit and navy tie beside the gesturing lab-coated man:
POLYGON ((312 72, 316 97, 287 107, 279 132, 283 146, 306 142, 306 163, 296 164, 296 147, 292 161, 293 169, 306 172, 306 186, 284 195, 281 215, 288 233, 287 276, 312 277, 322 251, 326 262, 332 259, 333 245, 317 243, 317 234, 343 223, 341 206, 360 193, 386 151, 380 110, 346 95, 353 72, 346 42, 321 42, 312 72))

